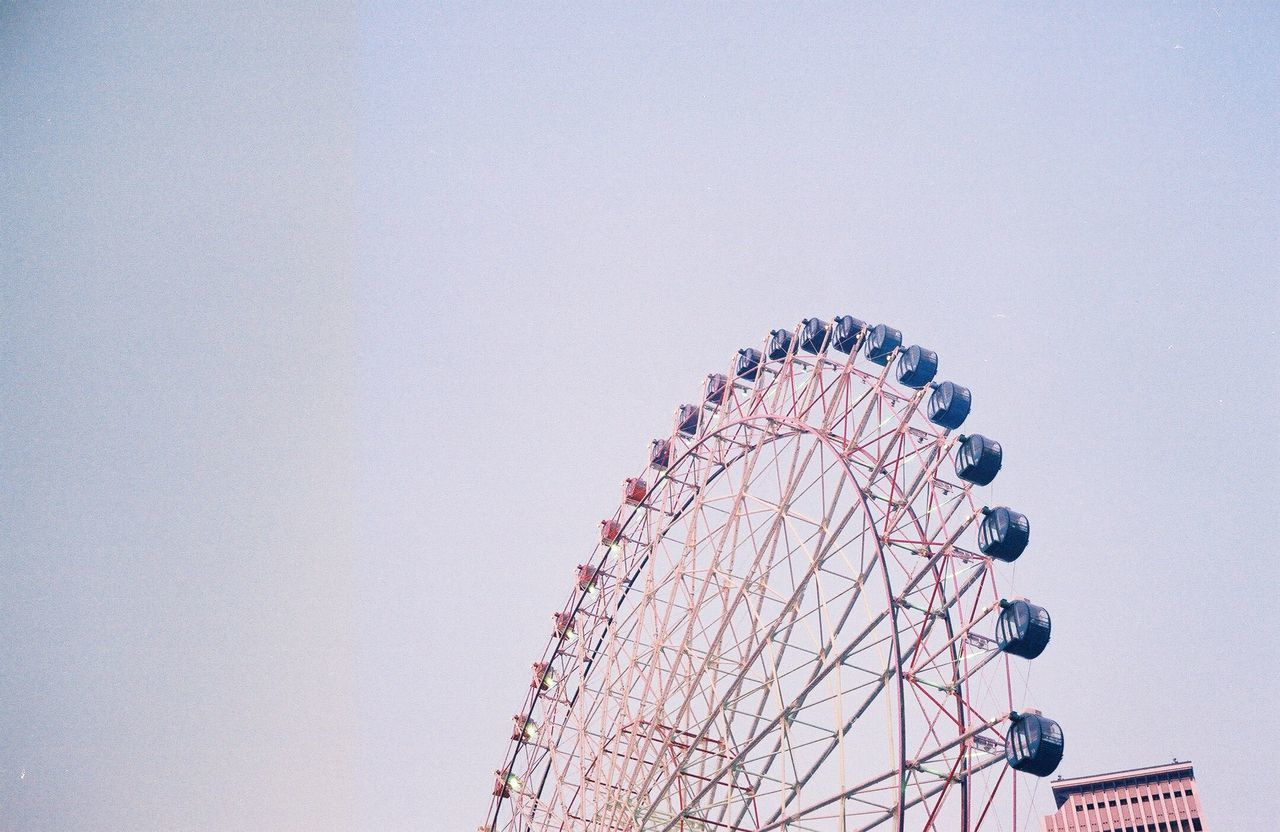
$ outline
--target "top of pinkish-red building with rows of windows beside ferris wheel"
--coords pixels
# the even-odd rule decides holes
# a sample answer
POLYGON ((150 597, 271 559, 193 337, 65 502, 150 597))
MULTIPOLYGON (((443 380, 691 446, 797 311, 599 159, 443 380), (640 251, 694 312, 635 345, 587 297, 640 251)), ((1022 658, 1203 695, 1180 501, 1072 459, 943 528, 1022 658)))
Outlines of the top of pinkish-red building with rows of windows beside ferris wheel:
POLYGON ((1201 832, 1190 763, 1053 781, 1057 812, 1044 832, 1201 832))

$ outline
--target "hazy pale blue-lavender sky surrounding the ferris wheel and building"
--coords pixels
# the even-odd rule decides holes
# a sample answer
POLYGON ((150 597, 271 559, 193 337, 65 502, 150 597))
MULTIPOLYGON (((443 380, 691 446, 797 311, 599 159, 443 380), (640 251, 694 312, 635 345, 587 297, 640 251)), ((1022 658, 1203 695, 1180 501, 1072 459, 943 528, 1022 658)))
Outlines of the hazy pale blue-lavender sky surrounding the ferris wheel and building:
POLYGON ((0 828, 474 828, 649 439, 838 314, 1005 447, 1060 771, 1270 822, 1274 6, 0 27, 0 828))

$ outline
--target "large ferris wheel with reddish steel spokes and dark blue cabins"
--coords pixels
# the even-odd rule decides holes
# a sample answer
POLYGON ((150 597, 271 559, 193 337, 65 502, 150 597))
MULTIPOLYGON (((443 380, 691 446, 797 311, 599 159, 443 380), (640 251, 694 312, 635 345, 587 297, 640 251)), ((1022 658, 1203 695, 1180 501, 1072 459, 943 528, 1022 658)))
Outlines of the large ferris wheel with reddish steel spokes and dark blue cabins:
POLYGON ((1062 731, 1015 710, 1048 613, 970 392, 851 316, 740 349, 577 567, 481 832, 1016 829, 1062 731), (1024 788, 1025 792, 1025 788, 1024 788))

